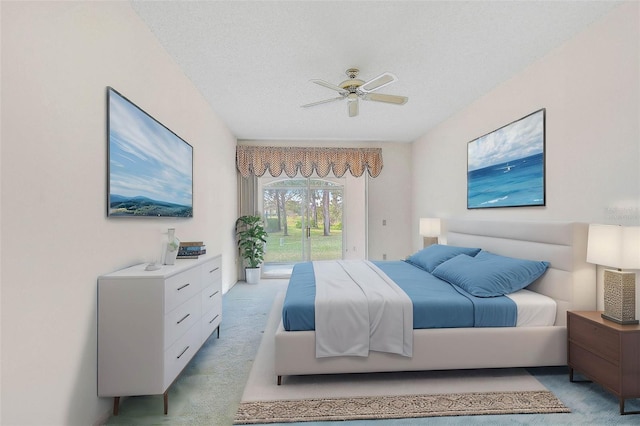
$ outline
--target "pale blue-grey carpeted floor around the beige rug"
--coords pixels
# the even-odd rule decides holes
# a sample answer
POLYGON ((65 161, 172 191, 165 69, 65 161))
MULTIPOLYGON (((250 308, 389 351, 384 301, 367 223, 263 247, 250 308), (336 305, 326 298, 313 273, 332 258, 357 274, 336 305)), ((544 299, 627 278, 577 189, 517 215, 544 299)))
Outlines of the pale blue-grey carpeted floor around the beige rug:
MULTIPOLYGON (((215 334, 205 343, 169 389, 169 414, 162 414, 162 396, 123 398, 120 415, 109 425, 231 425, 240 404, 263 330, 275 296, 286 280, 264 280, 258 285, 236 284, 223 298, 220 339, 215 334)), ((389 419, 376 425, 468 425, 553 424, 637 425, 640 415, 620 416, 618 400, 593 383, 570 383, 566 368, 532 368, 527 371, 555 394, 571 413, 519 414, 389 419)), ((639 410, 640 401, 627 401, 639 410)), ((341 426, 373 421, 343 421, 341 426)), ((304 423, 306 426, 332 422, 304 423)), ((289 423, 288 425, 292 425, 289 423)))

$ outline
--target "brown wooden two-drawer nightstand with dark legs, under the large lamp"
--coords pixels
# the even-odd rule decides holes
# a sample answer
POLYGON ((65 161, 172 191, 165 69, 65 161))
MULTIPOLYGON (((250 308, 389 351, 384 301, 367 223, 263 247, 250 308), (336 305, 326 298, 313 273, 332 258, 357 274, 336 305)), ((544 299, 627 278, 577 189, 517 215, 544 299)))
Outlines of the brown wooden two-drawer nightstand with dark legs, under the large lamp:
POLYGON ((640 398, 640 325, 619 325, 600 311, 567 312, 569 380, 577 370, 620 400, 640 398))

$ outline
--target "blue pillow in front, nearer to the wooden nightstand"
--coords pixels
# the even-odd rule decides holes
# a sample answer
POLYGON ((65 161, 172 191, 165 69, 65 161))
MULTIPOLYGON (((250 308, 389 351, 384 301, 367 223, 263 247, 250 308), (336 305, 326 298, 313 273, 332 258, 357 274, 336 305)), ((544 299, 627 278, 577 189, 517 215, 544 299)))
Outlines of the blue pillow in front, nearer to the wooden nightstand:
POLYGON ((456 256, 440 264, 433 275, 477 297, 495 297, 525 288, 549 267, 549 262, 515 259, 481 251, 475 257, 456 256))

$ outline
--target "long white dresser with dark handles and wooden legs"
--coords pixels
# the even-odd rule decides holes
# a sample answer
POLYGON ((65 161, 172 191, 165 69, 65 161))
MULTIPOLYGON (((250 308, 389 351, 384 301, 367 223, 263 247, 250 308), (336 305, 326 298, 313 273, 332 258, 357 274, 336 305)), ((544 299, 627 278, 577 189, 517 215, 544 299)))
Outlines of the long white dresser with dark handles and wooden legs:
POLYGON ((164 395, 222 321, 221 256, 98 278, 98 396, 164 395))

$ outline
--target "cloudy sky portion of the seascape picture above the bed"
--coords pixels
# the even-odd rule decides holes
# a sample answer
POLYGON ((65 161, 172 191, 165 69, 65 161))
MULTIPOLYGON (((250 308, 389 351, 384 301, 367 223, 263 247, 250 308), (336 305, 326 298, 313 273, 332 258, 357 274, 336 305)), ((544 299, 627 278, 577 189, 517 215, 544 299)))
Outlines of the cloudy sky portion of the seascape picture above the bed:
POLYGON ((539 154, 544 148, 544 111, 537 111, 469 142, 467 170, 539 154))

